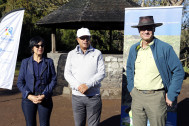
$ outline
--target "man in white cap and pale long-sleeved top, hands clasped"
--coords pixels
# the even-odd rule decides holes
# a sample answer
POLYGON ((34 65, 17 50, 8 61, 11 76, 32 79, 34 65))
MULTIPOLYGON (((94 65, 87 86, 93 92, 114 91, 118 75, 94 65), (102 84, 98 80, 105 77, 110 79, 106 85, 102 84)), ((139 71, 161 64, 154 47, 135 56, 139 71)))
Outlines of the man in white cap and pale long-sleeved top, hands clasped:
POLYGON ((101 81, 105 77, 102 53, 90 44, 88 28, 77 30, 79 45, 68 53, 64 77, 72 88, 75 126, 98 126, 102 109, 101 81))

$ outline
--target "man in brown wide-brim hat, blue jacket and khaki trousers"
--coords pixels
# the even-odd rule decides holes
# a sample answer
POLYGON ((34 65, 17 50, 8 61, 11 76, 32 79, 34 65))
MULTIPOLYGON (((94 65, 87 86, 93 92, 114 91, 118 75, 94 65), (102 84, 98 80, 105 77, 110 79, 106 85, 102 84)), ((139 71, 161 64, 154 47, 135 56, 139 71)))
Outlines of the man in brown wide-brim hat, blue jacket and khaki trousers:
POLYGON ((141 40, 132 45, 127 59, 127 88, 132 97, 134 126, 165 126, 167 105, 172 106, 184 79, 184 70, 173 48, 154 37, 153 16, 139 18, 141 40))

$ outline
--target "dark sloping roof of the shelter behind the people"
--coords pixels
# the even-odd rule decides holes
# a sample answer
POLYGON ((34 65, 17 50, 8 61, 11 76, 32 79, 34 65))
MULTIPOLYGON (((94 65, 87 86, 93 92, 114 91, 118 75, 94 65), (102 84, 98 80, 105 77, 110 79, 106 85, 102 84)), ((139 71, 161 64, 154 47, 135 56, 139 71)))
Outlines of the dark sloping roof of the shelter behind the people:
POLYGON ((131 0, 70 0, 39 20, 44 27, 123 30, 125 8, 139 7, 131 0))

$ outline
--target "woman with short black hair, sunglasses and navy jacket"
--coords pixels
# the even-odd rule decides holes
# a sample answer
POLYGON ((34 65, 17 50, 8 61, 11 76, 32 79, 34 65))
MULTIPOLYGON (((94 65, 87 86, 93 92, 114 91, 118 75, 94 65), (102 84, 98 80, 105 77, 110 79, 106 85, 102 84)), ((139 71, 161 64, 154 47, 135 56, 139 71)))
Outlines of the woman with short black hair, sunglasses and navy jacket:
POLYGON ((27 126, 36 126, 36 113, 40 126, 50 125, 53 108, 52 92, 56 85, 53 60, 43 56, 45 41, 36 36, 30 40, 32 56, 22 61, 17 87, 22 92, 22 110, 27 126))

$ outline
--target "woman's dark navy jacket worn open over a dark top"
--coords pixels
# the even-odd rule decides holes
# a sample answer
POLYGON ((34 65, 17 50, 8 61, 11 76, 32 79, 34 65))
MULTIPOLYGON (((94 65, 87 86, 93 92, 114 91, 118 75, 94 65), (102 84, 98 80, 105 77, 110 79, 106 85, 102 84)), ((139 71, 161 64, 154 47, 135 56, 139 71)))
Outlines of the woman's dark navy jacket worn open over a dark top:
MULTIPOLYGON (((27 98, 28 94, 34 94, 35 77, 32 58, 33 56, 22 60, 20 67, 17 87, 22 92, 23 98, 27 98)), ((40 78, 43 89, 41 90, 45 98, 50 98, 57 82, 56 72, 52 59, 43 57, 42 60, 40 78)))

